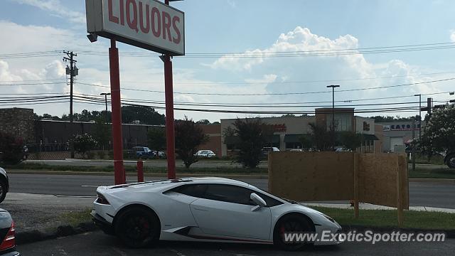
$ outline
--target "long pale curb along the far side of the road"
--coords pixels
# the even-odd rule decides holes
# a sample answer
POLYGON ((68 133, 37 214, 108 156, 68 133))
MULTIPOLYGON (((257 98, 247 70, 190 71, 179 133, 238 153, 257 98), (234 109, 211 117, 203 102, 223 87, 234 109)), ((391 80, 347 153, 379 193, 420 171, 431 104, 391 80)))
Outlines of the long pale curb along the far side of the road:
MULTIPOLYGON (((87 175, 87 176, 112 176, 114 172, 108 171, 26 171, 26 170, 9 170, 8 174, 54 174, 54 175, 87 175)), ((127 172, 127 176, 134 177, 136 173, 127 172)), ((145 177, 164 177, 167 178, 167 174, 150 174, 145 173, 145 177)), ((221 178, 255 178, 255 179, 267 179, 268 175, 261 174, 178 174, 182 178, 190 177, 208 177, 216 176, 221 178)))

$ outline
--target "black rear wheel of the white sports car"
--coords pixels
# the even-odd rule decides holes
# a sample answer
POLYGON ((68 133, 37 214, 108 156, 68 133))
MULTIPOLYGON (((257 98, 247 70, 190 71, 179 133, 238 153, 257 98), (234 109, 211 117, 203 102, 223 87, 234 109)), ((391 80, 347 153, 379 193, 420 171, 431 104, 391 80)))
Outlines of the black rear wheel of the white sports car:
POLYGON ((139 248, 155 245, 161 226, 156 215, 149 209, 134 207, 119 213, 115 233, 128 247, 139 248))

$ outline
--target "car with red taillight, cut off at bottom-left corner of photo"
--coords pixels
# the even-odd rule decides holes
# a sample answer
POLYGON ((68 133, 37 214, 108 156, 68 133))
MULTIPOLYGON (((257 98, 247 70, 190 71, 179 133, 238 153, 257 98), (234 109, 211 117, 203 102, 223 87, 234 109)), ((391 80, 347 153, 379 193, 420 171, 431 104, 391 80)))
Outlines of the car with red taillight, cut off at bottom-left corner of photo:
POLYGON ((0 209, 0 255, 18 256, 16 252, 16 230, 14 220, 8 211, 0 209))

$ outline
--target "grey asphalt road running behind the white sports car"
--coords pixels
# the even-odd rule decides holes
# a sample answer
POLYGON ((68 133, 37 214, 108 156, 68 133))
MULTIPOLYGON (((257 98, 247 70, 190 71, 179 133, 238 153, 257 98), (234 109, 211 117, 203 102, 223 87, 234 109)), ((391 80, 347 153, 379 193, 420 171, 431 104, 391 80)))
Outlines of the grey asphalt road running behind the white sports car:
MULTIPOLYGON (((10 191, 55 196, 95 196, 97 186, 112 185, 113 176, 53 175, 53 174, 9 174, 10 191)), ((128 182, 136 181, 134 176, 128 182)), ((159 177, 147 177, 159 180, 159 177)), ((267 190, 267 179, 242 179, 258 188, 267 190)), ((455 209, 455 184, 410 183, 410 206, 430 206, 455 209)))

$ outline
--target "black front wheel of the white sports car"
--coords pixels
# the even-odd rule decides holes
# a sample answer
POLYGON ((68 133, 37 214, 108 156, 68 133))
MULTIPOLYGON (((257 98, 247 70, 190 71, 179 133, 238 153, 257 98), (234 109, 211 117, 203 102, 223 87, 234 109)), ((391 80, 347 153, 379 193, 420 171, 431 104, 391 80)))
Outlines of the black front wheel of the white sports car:
POLYGON ((275 225, 273 243, 282 250, 300 250, 311 241, 287 241, 285 234, 314 232, 314 224, 303 215, 290 214, 282 217, 275 225))

